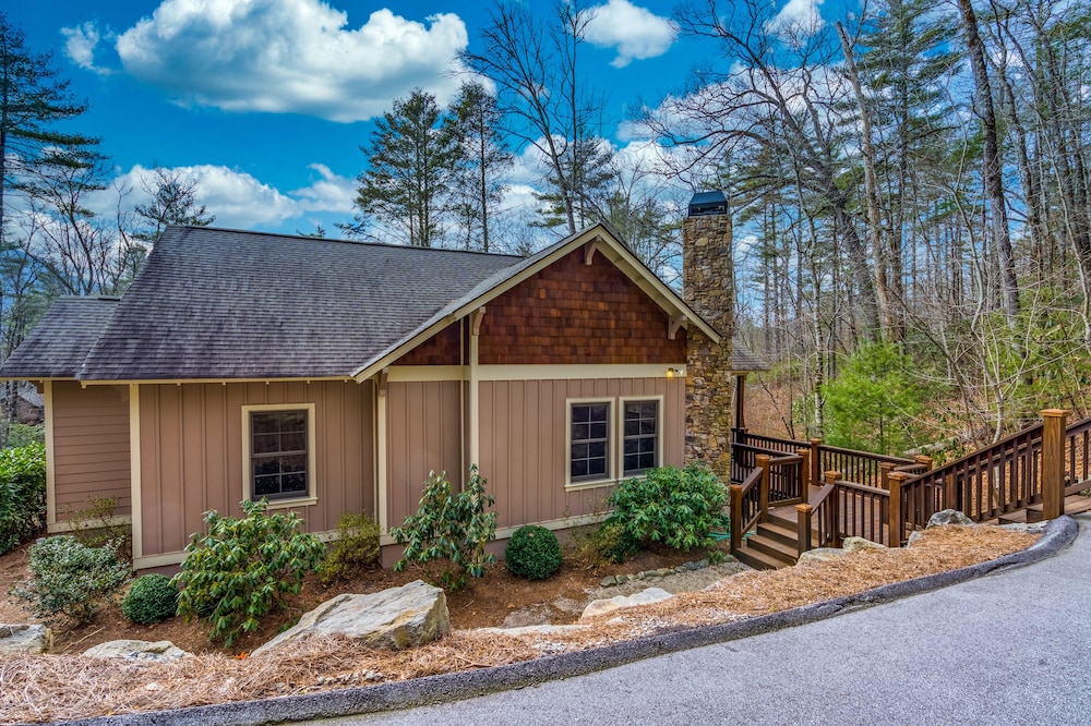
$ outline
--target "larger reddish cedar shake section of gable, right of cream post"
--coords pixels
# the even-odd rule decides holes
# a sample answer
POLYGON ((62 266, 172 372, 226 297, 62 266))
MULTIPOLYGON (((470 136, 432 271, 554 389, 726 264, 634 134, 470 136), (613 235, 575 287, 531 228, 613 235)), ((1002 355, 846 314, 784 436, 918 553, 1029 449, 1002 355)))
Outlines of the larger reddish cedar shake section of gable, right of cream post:
POLYGON ((685 361, 685 330, 602 254, 579 247, 485 305, 481 365, 685 361))

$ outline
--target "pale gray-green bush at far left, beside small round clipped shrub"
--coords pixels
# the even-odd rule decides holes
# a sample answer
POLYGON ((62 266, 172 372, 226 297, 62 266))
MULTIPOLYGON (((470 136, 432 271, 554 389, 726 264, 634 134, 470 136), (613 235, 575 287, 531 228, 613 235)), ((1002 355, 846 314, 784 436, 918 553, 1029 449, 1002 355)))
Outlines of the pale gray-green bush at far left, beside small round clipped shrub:
POLYGON ((95 617, 103 601, 110 600, 132 577, 118 561, 117 544, 85 547, 73 536, 43 540, 31 547, 29 581, 11 590, 28 603, 37 617, 63 613, 80 622, 95 617))

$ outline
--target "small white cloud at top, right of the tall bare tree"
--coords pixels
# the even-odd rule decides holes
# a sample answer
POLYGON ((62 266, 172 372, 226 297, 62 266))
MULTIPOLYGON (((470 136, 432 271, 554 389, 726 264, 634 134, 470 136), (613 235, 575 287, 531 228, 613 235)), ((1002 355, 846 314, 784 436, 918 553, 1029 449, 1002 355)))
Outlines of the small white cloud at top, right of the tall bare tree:
POLYGON ((618 49, 618 58, 611 62, 614 68, 662 56, 678 36, 678 28, 670 20, 628 0, 609 0, 588 12, 592 17, 587 24, 587 39, 600 48, 618 49))

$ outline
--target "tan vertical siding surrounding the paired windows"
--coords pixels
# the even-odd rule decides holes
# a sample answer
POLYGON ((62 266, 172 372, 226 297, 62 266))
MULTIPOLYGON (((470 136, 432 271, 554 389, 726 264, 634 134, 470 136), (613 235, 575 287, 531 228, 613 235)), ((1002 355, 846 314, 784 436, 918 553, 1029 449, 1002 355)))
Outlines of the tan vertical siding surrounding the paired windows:
MULTIPOLYGON (((684 378, 481 382, 481 474, 496 497, 497 527, 603 512, 611 484, 565 488, 571 399, 659 397, 662 465, 683 464, 684 378)), ((616 415, 616 409, 614 409, 616 415)))

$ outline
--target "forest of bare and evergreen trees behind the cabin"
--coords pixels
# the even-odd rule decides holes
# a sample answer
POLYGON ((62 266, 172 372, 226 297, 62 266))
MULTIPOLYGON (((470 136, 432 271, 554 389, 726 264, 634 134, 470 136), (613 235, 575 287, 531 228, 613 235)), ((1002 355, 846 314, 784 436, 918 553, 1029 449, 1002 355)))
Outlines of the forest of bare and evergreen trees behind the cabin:
MULTIPOLYGON (((685 202, 719 189, 736 334, 770 364, 751 400, 784 433, 949 457, 1044 408, 1091 413, 1091 3, 803 4, 678 8, 705 52, 631 106, 654 152, 634 156, 583 65, 590 11, 497 2, 458 97, 393 99, 361 140, 338 235, 529 253, 602 221, 679 285, 685 202), (528 150, 533 213, 513 221, 528 150)), ((93 211, 110 179, 71 131, 88 101, 2 14, 0 72, 7 355, 49 300, 122 292, 166 225, 215 216, 169 169, 144 180, 152 204, 118 189, 93 211)))

